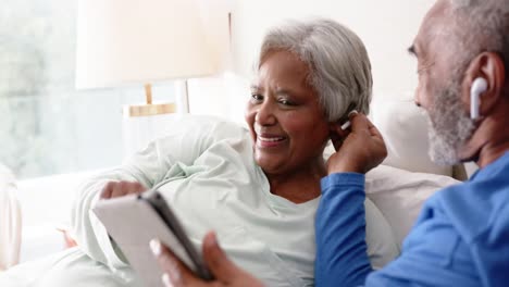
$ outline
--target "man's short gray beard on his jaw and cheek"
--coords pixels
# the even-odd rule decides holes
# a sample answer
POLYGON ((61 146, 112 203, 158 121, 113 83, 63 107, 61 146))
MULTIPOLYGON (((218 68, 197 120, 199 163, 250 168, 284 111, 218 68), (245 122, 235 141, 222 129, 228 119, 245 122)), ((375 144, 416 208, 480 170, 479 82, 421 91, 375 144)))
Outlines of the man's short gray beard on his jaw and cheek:
POLYGON ((475 124, 462 107, 459 80, 434 96, 427 113, 429 154, 437 164, 457 164, 461 161, 458 151, 472 136, 475 124))

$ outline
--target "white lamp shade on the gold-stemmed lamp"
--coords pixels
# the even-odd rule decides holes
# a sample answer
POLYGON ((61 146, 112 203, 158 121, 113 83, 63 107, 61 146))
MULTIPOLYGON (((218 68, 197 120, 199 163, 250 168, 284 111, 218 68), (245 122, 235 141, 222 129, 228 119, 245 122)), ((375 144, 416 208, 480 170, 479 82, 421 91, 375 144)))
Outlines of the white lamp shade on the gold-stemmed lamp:
POLYGON ((221 66, 196 0, 79 0, 76 88, 200 77, 221 66))

